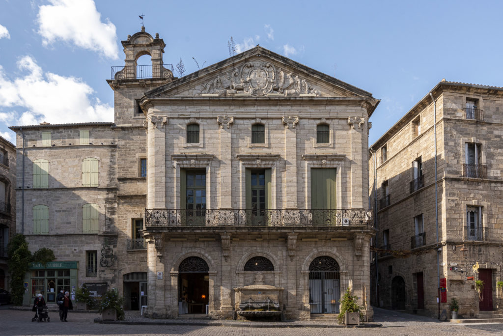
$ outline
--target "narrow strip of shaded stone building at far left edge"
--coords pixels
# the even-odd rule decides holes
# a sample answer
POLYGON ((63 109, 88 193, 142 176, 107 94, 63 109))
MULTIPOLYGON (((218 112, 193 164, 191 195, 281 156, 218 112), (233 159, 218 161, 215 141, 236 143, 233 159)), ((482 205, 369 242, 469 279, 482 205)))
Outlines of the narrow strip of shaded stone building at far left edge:
POLYGON ((10 290, 7 244, 16 232, 16 149, 0 137, 0 288, 10 290))

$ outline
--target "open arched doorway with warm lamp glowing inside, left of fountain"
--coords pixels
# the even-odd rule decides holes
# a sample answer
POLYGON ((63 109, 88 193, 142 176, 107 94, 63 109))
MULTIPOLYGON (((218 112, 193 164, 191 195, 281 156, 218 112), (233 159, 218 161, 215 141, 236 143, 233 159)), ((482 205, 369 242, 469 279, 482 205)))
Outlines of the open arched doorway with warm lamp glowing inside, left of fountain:
POLYGON ((199 257, 185 259, 178 268, 178 313, 206 314, 209 300, 209 267, 199 257))

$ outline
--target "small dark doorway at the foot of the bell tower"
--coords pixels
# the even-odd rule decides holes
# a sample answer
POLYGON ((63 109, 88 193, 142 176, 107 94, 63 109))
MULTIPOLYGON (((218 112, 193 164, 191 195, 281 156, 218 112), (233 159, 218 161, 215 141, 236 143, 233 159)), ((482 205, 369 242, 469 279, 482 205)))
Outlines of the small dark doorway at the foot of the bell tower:
POLYGON ((122 276, 126 310, 140 310, 147 305, 147 273, 132 272, 122 276))

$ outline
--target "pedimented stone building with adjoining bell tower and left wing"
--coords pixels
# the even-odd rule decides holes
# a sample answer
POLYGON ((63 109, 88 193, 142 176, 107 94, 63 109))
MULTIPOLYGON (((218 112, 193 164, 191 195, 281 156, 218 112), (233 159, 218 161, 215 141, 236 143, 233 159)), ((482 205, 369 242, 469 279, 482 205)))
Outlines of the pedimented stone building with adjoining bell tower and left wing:
MULTIPOLYGON (((117 288, 148 316, 337 314, 351 279, 372 319, 366 153, 379 101, 262 47, 174 78, 158 34, 122 44, 114 123, 12 127, 18 167, 26 142, 18 231, 31 248, 54 246, 49 266, 70 267, 70 287, 117 288)), ((32 295, 54 274, 40 267, 32 295)))

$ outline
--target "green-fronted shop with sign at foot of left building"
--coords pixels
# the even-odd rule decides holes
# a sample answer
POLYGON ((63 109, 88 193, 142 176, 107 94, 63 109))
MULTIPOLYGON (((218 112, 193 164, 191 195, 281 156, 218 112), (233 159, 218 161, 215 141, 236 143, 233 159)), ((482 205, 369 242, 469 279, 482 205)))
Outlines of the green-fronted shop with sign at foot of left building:
POLYGON ((23 304, 30 305, 38 294, 44 296, 47 304, 56 303, 60 290, 75 294, 77 269, 77 262, 31 263, 24 282, 23 304))

